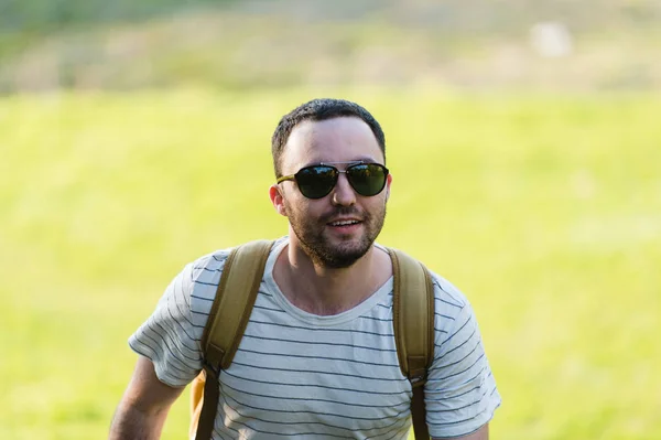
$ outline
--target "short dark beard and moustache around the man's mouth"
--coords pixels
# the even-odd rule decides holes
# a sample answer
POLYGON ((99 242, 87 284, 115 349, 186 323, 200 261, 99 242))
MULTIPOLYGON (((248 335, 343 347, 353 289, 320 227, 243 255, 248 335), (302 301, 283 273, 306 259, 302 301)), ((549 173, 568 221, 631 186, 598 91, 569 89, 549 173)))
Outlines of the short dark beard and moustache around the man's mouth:
POLYGON ((359 212, 355 207, 339 206, 323 215, 318 219, 312 219, 304 213, 288 208, 289 222, 301 248, 315 265, 332 269, 344 269, 353 266, 370 249, 377 236, 383 228, 386 221, 386 204, 372 214, 359 212), (356 216, 361 218, 362 234, 356 238, 339 239, 332 243, 325 235, 326 225, 337 216, 356 216))

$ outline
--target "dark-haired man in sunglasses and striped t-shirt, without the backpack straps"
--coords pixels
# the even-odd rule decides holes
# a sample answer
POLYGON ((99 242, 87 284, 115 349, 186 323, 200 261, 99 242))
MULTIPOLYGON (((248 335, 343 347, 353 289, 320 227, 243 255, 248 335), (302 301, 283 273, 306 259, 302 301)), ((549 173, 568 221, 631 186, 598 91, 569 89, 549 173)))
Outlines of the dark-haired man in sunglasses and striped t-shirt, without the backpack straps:
MULTIPOLYGON (((375 244, 392 176, 379 124, 337 99, 303 104, 272 138, 275 211, 289 235, 269 256, 231 366, 220 373, 214 439, 405 439, 411 385, 392 333, 392 265, 375 244)), ((130 337, 140 356, 110 439, 158 439, 202 368, 201 337, 229 250, 189 264, 130 337)), ((500 404, 466 298, 433 275, 434 439, 484 440, 500 404)))

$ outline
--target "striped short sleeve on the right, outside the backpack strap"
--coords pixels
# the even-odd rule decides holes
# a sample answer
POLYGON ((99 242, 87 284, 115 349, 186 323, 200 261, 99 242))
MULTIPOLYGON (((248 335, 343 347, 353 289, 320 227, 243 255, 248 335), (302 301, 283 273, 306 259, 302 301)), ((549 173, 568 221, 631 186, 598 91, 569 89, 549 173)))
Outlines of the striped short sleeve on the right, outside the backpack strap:
POLYGON ((500 406, 500 395, 470 304, 463 297, 441 304, 425 385, 426 420, 432 437, 452 438, 487 423, 500 406))

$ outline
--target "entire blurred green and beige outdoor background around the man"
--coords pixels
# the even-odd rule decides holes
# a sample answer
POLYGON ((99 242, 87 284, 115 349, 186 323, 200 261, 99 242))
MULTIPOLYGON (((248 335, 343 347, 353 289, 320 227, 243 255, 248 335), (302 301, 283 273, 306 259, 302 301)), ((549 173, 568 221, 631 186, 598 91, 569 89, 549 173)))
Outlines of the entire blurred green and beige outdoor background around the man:
POLYGON ((492 438, 660 439, 660 93, 659 0, 0 0, 0 438, 107 436, 128 336, 285 233, 270 136, 333 96, 387 135, 379 242, 477 312, 492 438))

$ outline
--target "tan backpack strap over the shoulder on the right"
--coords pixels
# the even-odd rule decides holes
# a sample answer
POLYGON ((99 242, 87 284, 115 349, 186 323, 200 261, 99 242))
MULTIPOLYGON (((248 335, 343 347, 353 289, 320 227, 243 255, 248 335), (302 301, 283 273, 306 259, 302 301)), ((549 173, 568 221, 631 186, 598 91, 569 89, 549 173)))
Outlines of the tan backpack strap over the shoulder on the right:
POLYGON ((416 440, 429 440, 424 384, 434 358, 434 285, 429 270, 398 249, 388 249, 393 272, 393 326, 402 374, 411 382, 416 440))

